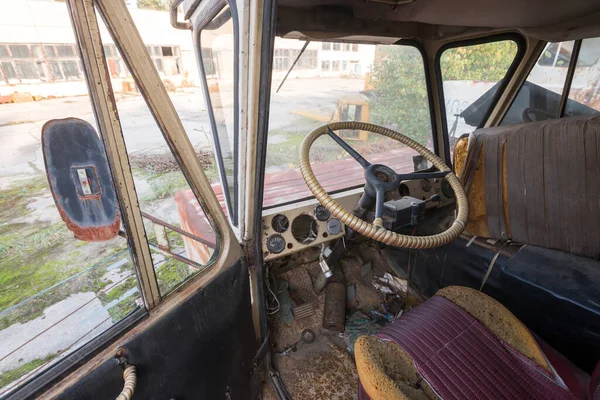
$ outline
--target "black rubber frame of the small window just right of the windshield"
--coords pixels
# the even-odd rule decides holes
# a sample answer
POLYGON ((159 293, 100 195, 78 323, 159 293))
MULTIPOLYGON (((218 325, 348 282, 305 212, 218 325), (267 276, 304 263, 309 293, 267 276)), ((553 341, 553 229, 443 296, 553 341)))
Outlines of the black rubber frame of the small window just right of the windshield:
POLYGON ((437 88, 438 88, 438 101, 440 103, 440 112, 441 112, 440 119, 442 122, 441 128, 442 128, 442 138, 444 140, 444 155, 446 157, 446 164, 448 164, 448 166, 450 168, 452 168, 452 157, 450 156, 450 137, 448 135, 448 121, 446 118, 446 100, 444 98, 444 77, 442 75, 442 68, 441 68, 441 64, 440 64, 442 55, 444 54, 444 52, 446 50, 454 49, 457 47, 476 46, 476 45, 480 45, 480 44, 502 42, 505 40, 511 40, 511 41, 515 42, 515 44, 517 45, 517 53, 515 54, 515 58, 513 59, 512 63, 510 64, 510 67, 508 67, 508 69, 506 70, 506 73, 504 74, 504 78, 502 78, 498 82, 499 83, 498 90, 496 90, 496 93, 494 93, 494 97, 492 98, 490 108, 486 111, 481 123, 475 128, 475 129, 481 129, 485 126, 485 123, 489 120, 490 115, 492 114, 492 111, 494 110, 494 108, 496 108, 496 105, 498 104, 500 97, 506 90, 508 83, 514 77, 514 74, 517 71, 518 66, 521 64, 521 61, 523 61, 523 57, 525 56, 525 53, 527 51, 527 41, 525 40, 525 38, 522 35, 520 35, 516 32, 501 33, 501 34, 479 37, 479 38, 475 38, 475 39, 466 39, 466 40, 458 40, 455 42, 449 42, 449 43, 446 43, 443 46, 441 46, 435 53, 434 68, 435 68, 436 84, 437 84, 437 88))

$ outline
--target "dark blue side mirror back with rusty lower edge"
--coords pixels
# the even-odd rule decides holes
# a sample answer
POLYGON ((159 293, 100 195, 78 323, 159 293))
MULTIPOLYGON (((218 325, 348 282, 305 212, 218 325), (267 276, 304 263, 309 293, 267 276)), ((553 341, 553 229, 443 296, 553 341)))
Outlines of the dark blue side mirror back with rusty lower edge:
POLYGON ((48 121, 42 150, 54 202, 75 237, 94 242, 117 236, 117 198, 94 127, 77 118, 48 121))

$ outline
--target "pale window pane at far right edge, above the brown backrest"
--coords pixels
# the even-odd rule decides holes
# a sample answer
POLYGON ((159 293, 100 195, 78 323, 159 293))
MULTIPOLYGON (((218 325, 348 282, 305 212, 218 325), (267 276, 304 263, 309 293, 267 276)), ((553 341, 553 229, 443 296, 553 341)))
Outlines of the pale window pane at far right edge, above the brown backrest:
POLYGON ((600 38, 584 39, 579 56, 565 116, 600 112, 600 38))

